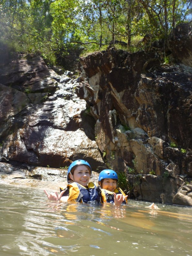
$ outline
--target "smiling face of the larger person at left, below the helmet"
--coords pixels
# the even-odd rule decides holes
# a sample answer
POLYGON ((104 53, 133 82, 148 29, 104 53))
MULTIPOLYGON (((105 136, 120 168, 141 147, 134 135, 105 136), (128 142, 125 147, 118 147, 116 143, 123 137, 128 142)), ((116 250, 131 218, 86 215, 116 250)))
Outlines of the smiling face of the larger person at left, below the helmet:
POLYGON ((86 187, 90 179, 90 170, 86 165, 76 166, 73 174, 70 173, 70 178, 82 186, 86 187))

